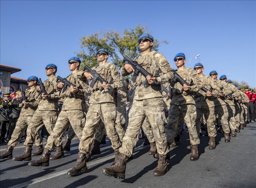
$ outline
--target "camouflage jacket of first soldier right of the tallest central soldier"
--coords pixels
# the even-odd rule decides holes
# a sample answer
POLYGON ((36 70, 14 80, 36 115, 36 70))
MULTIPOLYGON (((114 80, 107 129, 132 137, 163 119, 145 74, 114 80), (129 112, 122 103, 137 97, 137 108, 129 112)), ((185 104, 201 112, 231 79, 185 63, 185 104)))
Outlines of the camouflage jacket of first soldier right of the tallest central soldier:
POLYGON ((185 80, 187 83, 193 81, 193 85, 190 86, 190 91, 182 91, 183 85, 179 82, 174 84, 171 88, 171 104, 183 105, 183 104, 195 104, 194 94, 202 88, 202 81, 194 69, 184 67, 183 70, 176 70, 176 72, 185 80), (181 92, 182 91, 182 92, 181 92))

